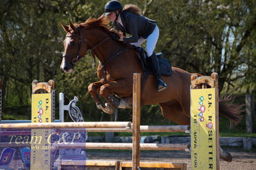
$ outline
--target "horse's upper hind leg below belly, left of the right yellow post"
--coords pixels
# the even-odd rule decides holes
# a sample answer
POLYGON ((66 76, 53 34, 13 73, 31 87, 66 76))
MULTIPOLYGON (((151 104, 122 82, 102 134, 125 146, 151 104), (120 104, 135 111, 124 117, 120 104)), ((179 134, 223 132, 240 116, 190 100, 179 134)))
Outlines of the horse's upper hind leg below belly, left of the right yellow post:
POLYGON ((164 118, 167 118, 178 125, 190 125, 190 118, 183 112, 180 104, 160 104, 164 118))

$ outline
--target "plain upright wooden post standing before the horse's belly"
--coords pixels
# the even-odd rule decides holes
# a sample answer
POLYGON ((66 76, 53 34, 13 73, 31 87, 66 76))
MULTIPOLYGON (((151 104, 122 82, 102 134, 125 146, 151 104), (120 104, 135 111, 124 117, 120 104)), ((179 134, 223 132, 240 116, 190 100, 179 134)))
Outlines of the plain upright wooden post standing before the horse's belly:
POLYGON ((132 170, 139 169, 141 126, 141 73, 133 73, 132 170))

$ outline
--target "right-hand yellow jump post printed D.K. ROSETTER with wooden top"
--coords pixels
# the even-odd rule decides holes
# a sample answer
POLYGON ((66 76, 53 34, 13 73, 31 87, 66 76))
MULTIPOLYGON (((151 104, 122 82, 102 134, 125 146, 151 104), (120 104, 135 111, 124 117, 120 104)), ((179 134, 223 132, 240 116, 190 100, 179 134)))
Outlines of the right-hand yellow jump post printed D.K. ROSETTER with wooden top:
POLYGON ((191 169, 219 170, 218 73, 191 74, 191 169))

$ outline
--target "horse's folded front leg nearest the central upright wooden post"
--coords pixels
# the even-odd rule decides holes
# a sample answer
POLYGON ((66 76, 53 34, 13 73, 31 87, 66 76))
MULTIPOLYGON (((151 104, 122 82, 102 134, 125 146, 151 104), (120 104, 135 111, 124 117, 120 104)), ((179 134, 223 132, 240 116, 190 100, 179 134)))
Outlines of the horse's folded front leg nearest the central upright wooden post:
POLYGON ((114 107, 117 108, 130 108, 132 104, 126 99, 121 101, 114 98, 112 95, 114 93, 123 94, 124 96, 129 96, 132 94, 132 87, 128 86, 125 81, 118 80, 112 81, 107 84, 103 84, 99 90, 99 95, 108 100, 108 104, 105 104, 106 108, 103 110, 107 114, 112 114, 114 112, 114 107), (107 110, 108 109, 108 110, 107 110))

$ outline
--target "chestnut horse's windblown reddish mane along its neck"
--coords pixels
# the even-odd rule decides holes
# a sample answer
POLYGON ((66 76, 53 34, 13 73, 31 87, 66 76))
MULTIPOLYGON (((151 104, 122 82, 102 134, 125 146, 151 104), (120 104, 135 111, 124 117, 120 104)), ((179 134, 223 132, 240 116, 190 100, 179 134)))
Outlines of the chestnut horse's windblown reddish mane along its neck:
MULTIPOLYGON (((114 35, 120 36, 119 33, 117 33, 117 31, 110 30, 110 27, 108 27, 108 24, 109 24, 109 20, 107 19, 107 17, 105 17, 104 15, 101 15, 101 17, 99 17, 98 19, 89 18, 85 22, 74 23, 74 26, 75 27, 81 26, 83 29, 100 28, 100 29, 103 29, 103 31, 105 31, 105 33, 107 33, 108 35, 114 34, 114 35)), ((69 27, 69 29, 71 31, 71 27, 69 27)))

